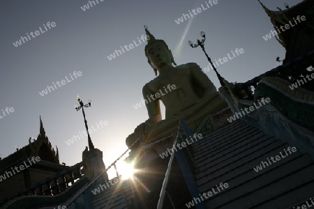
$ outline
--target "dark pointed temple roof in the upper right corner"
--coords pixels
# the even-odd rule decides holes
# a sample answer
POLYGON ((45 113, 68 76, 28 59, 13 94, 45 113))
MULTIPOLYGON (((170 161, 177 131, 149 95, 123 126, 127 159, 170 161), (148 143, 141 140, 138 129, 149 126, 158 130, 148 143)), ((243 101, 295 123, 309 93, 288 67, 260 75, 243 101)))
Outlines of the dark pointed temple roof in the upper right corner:
MULTIPOLYGON (((293 23, 293 18, 297 17, 298 15, 304 15, 308 17, 310 10, 314 9, 313 0, 304 0, 295 6, 285 9, 277 7, 278 11, 269 10, 269 8, 264 6, 264 4, 260 0, 257 1, 260 2, 262 8, 264 8, 265 12, 270 17, 271 23, 274 25, 274 29, 276 29, 277 32, 277 27, 279 28, 280 26, 287 24, 290 20, 293 23)), ((308 20, 308 18, 306 18, 306 20, 308 20)), ((278 38, 276 39, 279 43, 281 43, 281 45, 283 45, 283 47, 286 47, 291 31, 292 30, 285 30, 281 33, 278 33, 278 38)))

